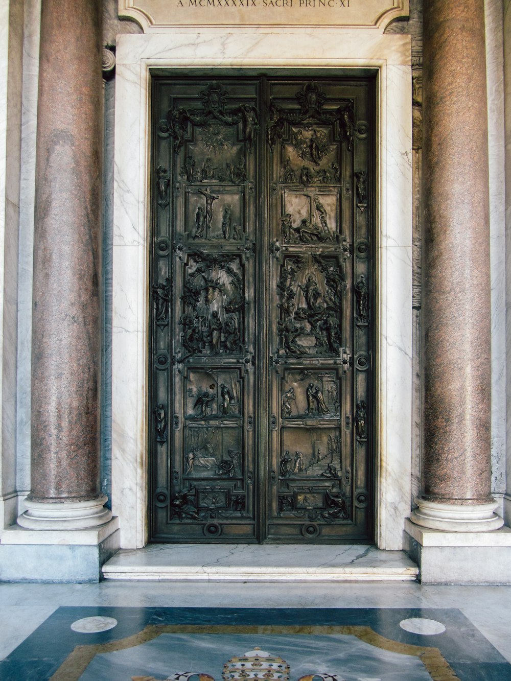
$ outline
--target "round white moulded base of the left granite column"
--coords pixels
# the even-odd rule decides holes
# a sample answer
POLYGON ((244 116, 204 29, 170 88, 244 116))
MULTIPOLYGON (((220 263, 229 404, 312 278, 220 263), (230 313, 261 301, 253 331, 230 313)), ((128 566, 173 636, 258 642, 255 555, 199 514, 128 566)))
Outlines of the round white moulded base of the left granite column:
POLYGON ((58 503, 27 498, 27 510, 19 516, 18 525, 29 530, 87 530, 112 519, 112 511, 104 507, 106 501, 106 494, 88 501, 58 503))

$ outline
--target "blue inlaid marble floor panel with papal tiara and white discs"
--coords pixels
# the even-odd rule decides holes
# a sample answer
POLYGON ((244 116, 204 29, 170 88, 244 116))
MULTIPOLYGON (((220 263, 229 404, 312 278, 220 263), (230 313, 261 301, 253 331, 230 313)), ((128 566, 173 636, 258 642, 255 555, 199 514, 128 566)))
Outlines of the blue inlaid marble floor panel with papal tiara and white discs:
POLYGON ((458 609, 417 608, 59 607, 0 662, 6 681, 255 678, 504 681, 511 665, 458 609))

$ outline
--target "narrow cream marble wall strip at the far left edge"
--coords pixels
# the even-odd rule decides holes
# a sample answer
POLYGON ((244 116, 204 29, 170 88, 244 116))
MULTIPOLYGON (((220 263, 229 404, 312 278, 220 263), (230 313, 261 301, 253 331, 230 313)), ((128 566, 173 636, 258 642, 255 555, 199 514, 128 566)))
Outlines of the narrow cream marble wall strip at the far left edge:
POLYGON ((0 529, 16 518, 16 343, 23 2, 0 3, 0 529))

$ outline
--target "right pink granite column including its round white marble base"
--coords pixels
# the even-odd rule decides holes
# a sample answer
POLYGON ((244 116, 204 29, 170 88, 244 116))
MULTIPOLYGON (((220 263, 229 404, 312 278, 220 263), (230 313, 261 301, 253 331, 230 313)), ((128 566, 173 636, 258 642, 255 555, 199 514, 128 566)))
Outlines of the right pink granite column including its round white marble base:
POLYGON ((416 524, 502 524, 491 497, 484 3, 424 3, 424 447, 416 524))

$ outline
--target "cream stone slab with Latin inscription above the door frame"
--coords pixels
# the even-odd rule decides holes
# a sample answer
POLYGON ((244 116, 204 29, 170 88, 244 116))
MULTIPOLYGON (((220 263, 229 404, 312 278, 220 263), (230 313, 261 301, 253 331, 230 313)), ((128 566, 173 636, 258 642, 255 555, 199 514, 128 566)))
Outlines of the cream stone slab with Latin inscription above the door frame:
POLYGON ((144 31, 172 26, 371 27, 407 16, 409 0, 119 0, 119 16, 144 31))

